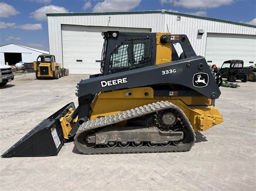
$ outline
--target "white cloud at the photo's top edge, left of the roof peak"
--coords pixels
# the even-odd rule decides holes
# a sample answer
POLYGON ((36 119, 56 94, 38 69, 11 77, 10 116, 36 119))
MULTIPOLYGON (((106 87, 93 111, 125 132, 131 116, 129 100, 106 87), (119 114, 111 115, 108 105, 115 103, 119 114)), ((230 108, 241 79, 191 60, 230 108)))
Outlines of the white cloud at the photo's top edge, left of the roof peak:
POLYGON ((104 0, 93 8, 94 12, 130 11, 140 4, 141 0, 104 0))

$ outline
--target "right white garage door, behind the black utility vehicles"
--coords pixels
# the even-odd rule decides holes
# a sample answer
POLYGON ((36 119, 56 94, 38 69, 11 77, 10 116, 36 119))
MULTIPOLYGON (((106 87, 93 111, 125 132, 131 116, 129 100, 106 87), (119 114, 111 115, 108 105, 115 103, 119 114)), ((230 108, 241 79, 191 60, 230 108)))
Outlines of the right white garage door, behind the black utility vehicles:
POLYGON ((251 66, 256 62, 256 36, 208 33, 205 58, 218 67, 226 60, 244 60, 251 66))

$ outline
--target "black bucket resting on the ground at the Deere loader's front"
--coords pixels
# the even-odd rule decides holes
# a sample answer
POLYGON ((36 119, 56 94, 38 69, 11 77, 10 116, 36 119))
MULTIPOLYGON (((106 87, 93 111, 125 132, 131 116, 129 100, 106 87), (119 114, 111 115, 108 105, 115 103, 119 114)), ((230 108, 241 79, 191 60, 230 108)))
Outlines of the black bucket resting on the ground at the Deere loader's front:
POLYGON ((35 128, 28 132, 2 157, 47 157, 57 155, 64 144, 64 135, 59 119, 63 117, 69 108, 75 108, 73 102, 65 105, 50 117, 44 119, 35 128))

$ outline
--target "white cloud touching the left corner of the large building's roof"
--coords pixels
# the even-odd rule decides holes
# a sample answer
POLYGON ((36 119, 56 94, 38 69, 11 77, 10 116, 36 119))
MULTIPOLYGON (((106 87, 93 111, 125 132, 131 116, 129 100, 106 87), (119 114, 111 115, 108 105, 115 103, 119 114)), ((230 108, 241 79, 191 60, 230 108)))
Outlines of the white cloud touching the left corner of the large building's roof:
POLYGON ((68 9, 62 6, 48 5, 30 13, 30 17, 36 20, 47 20, 46 13, 66 13, 68 9))

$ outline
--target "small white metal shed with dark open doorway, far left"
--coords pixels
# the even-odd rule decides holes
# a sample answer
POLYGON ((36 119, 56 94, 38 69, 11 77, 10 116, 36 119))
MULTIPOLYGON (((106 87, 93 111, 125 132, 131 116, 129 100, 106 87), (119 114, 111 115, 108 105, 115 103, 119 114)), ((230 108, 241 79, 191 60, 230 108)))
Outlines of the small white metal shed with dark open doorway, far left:
POLYGON ((0 46, 0 63, 15 65, 18 62, 33 62, 41 54, 49 52, 16 44, 3 45, 0 46))

